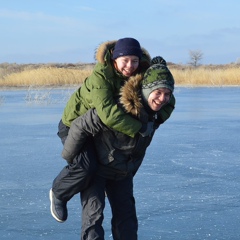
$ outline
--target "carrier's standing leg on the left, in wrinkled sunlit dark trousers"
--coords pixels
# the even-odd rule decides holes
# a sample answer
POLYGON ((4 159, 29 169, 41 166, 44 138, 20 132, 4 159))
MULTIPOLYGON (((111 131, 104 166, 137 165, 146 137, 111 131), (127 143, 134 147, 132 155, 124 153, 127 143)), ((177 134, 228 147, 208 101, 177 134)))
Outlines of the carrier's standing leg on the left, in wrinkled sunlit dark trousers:
POLYGON ((82 240, 104 240, 105 181, 96 176, 89 187, 81 192, 82 240))

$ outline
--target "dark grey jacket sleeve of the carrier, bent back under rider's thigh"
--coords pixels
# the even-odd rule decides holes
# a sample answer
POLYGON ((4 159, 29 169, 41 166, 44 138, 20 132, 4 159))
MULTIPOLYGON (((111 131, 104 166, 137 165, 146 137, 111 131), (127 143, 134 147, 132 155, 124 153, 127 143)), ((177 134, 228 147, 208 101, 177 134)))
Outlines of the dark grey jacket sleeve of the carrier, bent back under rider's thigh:
POLYGON ((86 114, 76 118, 69 129, 62 157, 71 163, 74 157, 81 152, 87 138, 96 135, 99 131, 106 130, 106 128, 99 119, 96 109, 90 109, 86 114))

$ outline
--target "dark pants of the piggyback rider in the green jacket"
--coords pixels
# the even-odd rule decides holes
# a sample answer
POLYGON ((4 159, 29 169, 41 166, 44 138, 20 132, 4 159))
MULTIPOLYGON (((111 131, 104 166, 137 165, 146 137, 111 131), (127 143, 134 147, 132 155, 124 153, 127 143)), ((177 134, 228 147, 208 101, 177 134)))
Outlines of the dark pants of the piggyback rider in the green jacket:
MULTIPOLYGON (((58 136, 64 144, 69 128, 61 121, 58 136)), ((56 198, 69 201, 75 194, 83 191, 95 175, 97 169, 97 156, 91 138, 83 146, 81 153, 73 159, 73 163, 62 169, 54 179, 52 190, 56 198)))

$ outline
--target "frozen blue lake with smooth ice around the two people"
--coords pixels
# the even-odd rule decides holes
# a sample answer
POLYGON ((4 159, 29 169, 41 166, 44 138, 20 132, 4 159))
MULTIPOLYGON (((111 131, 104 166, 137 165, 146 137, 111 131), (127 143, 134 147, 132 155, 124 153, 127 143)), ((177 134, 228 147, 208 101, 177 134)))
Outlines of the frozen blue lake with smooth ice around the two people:
MULTIPOLYGON (((80 238, 79 195, 65 223, 48 198, 65 165, 56 132, 71 91, 0 91, 0 239, 80 238)), ((135 177, 139 240, 239 240, 240 88, 178 87, 175 96, 135 177)), ((107 204, 105 239, 110 219, 107 204)))

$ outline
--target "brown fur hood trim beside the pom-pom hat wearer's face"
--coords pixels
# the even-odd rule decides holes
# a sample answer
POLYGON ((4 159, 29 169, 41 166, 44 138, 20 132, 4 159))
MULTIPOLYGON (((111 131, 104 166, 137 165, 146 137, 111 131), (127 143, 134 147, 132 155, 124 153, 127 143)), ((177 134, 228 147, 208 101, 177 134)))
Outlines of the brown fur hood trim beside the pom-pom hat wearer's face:
POLYGON ((127 113, 131 113, 138 118, 140 118, 140 114, 143 110, 143 105, 141 103, 142 79, 143 76, 141 74, 130 77, 120 89, 120 103, 127 113))

